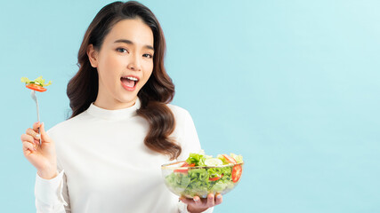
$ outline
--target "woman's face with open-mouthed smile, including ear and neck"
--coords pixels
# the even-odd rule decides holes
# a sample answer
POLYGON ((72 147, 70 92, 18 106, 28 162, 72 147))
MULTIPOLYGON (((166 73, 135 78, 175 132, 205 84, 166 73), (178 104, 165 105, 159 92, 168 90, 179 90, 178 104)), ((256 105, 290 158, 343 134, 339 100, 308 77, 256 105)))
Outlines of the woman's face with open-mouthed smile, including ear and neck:
POLYGON ((100 51, 89 45, 87 54, 99 75, 96 106, 106 109, 133 106, 153 70, 153 42, 150 27, 135 19, 117 22, 105 36, 100 51))

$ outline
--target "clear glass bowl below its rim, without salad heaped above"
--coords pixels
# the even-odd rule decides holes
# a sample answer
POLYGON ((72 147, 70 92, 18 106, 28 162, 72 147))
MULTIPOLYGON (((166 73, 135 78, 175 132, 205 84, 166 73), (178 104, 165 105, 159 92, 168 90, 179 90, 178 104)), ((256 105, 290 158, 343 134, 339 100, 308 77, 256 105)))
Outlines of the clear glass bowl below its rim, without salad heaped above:
POLYGON ((168 189, 178 196, 206 198, 208 193, 225 194, 239 184, 244 162, 222 166, 189 167, 184 162, 161 166, 168 189), (222 174, 222 175, 220 175, 222 174))

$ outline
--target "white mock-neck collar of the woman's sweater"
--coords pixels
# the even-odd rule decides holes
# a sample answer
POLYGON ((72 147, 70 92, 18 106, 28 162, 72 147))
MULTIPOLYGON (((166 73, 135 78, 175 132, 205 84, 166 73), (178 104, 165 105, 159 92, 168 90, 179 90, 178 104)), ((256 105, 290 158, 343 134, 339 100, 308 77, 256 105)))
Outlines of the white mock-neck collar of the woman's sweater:
POLYGON ((104 109, 91 103, 91 105, 87 108, 87 113, 106 120, 121 120, 136 115, 136 110, 139 109, 140 106, 140 99, 136 99, 133 106, 114 110, 104 109))

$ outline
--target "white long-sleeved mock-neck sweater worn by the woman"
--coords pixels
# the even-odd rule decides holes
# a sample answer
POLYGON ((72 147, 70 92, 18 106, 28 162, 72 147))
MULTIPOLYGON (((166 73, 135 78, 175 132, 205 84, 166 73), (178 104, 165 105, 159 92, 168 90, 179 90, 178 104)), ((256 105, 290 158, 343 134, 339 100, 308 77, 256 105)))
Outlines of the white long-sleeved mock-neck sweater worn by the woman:
MULTIPOLYGON (((149 124, 137 116, 140 106, 139 99, 118 110, 92 104, 47 131, 56 145, 60 174, 50 180, 36 175, 37 212, 187 212, 161 176, 160 166, 169 158, 143 143, 149 124)), ((171 137, 182 146, 182 161, 200 150, 197 131, 188 111, 167 106, 174 113, 171 137)))

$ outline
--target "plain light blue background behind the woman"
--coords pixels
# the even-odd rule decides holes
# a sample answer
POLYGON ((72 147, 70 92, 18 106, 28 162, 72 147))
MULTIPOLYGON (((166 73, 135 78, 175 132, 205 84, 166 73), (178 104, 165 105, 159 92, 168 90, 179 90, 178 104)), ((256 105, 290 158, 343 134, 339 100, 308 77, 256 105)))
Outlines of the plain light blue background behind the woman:
MULTIPOLYGON (((36 170, 20 135, 69 114, 85 29, 110 1, 0 5, 2 212, 34 212, 36 170)), ((215 212, 380 212, 379 1, 141 1, 167 42, 174 104, 190 111, 208 154, 245 158, 215 212)), ((143 198, 141 198, 143 199, 143 198)))

